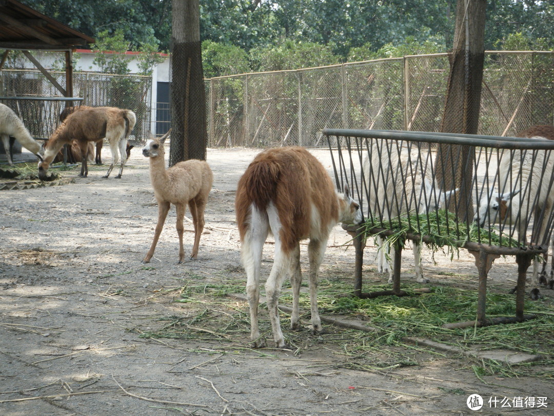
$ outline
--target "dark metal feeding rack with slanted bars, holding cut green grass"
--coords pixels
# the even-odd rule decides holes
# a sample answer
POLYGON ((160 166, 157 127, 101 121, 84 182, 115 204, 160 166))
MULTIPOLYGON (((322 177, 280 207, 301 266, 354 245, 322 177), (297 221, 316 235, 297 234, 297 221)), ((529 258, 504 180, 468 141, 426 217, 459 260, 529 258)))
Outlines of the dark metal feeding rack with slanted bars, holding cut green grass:
POLYGON ((449 327, 533 317, 524 314, 525 281, 531 262, 548 253, 552 239, 554 141, 393 130, 323 133, 337 187, 350 185, 365 216, 361 225, 343 226, 355 246, 355 296, 407 295, 401 290, 400 268, 404 241, 412 240, 415 245, 465 248, 475 256, 476 321, 449 327), (379 250, 393 262, 390 291, 362 292, 368 237, 382 239, 379 250), (487 319, 487 275, 500 256, 515 256, 517 263, 516 313, 487 319))

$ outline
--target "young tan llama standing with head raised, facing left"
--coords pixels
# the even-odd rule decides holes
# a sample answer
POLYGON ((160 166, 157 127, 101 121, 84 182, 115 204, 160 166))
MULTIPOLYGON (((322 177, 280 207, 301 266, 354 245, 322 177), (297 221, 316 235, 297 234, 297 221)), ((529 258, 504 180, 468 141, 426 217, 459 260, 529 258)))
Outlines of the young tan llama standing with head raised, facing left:
POLYGON ((187 204, 191 210, 194 224, 194 245, 191 258, 198 256, 200 236, 204 229, 204 209, 208 201, 209 191, 212 189, 213 174, 209 165, 204 160, 191 159, 179 162, 171 168, 165 168, 165 150, 163 143, 170 135, 168 131, 160 139, 150 139, 142 148, 142 154, 150 158, 150 180, 154 189, 154 195, 158 202, 158 223, 154 232, 154 239, 144 263, 150 262, 154 255, 156 244, 160 238, 163 224, 166 221, 170 205, 175 205, 177 210, 177 234, 179 235, 179 263, 184 261, 183 250, 183 218, 187 204))

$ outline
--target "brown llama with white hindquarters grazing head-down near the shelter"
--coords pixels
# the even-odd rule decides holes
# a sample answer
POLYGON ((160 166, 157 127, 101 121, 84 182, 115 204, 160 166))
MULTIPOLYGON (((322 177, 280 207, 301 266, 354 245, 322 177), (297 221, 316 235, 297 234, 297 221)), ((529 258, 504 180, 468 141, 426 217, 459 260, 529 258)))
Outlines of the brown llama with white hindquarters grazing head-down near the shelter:
MULTIPOLYGON (((58 126, 44 145, 44 156, 40 158, 38 164, 40 179, 47 178, 50 164, 64 144, 70 144, 75 139, 79 141, 81 149, 86 150, 84 145, 87 141, 99 141, 104 138, 110 143, 112 153, 112 162, 104 177, 109 177, 114 165, 117 164, 119 160, 117 149, 119 148, 121 166, 116 178, 120 178, 127 160, 127 137, 135 124, 136 116, 131 110, 115 107, 88 107, 74 111, 58 126)), ((84 151, 81 155, 80 176, 86 177, 88 175, 86 152, 84 151)))

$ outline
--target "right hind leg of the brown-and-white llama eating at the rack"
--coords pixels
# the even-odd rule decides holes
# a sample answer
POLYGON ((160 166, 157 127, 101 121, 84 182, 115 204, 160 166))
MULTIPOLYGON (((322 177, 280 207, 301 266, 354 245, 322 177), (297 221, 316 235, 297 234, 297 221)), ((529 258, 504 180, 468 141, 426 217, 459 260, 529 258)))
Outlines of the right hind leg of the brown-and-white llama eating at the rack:
POLYGON ((281 223, 279 221, 279 214, 273 202, 270 202, 267 212, 269 226, 275 238, 275 252, 273 266, 271 266, 271 272, 265 283, 265 295, 268 303, 269 318, 271 320, 271 329, 273 330, 275 346, 277 348, 289 348, 288 344, 285 343, 283 331, 281 331, 278 307, 283 280, 285 279, 286 272, 290 269, 291 250, 294 250, 294 248, 289 248, 287 252, 284 251, 285 247, 283 247, 280 238, 281 223))

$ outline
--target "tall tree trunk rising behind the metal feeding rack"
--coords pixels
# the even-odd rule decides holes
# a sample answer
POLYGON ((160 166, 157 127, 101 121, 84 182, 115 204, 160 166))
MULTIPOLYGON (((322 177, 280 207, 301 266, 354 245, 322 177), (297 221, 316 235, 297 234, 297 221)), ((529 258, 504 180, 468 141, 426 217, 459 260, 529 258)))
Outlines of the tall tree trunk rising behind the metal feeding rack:
MULTIPOLYGON (((458 0, 453 50, 449 54, 447 98, 440 131, 476 134, 479 127, 481 82, 485 57, 485 0, 458 0)), ((475 148, 463 145, 439 145, 437 184, 456 192, 458 218, 473 217, 471 182, 475 148)))

